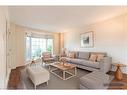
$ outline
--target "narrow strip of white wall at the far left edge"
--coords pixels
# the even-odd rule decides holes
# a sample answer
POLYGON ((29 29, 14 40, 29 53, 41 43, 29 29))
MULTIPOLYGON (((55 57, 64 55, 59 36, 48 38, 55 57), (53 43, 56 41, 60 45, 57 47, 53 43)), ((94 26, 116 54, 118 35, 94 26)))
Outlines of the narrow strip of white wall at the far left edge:
POLYGON ((0 7, 0 89, 7 86, 6 21, 8 21, 8 8, 0 7))

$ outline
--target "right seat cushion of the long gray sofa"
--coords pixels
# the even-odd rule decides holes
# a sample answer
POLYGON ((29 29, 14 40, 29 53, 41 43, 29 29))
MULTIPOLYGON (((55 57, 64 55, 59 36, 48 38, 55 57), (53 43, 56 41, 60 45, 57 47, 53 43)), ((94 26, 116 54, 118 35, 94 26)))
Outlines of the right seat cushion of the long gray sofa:
POLYGON ((78 64, 84 65, 84 66, 87 66, 87 67, 100 68, 99 62, 92 62, 92 61, 89 61, 89 60, 82 60, 78 64))

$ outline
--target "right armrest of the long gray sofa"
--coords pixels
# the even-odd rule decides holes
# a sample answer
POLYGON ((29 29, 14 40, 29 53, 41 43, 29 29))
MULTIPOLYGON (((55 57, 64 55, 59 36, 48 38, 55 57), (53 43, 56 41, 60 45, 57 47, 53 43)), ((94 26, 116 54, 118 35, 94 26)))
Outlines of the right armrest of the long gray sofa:
POLYGON ((100 61, 100 71, 103 73, 107 73, 111 69, 111 63, 112 63, 112 58, 111 57, 104 57, 100 61))

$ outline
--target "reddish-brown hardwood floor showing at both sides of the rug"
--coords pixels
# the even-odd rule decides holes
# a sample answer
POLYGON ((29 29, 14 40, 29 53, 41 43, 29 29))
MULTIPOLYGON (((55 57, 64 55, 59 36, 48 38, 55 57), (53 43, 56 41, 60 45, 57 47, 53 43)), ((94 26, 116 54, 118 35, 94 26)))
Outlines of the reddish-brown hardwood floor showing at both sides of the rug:
MULTIPOLYGON (((18 89, 18 85, 21 82, 21 69, 25 67, 18 67, 13 69, 10 74, 9 82, 8 82, 8 89, 18 89)), ((109 75, 113 75, 114 72, 109 72, 109 75)), ((127 75, 124 74, 124 78, 121 81, 116 80, 115 78, 110 83, 108 89, 116 90, 116 89, 127 89, 127 75)))

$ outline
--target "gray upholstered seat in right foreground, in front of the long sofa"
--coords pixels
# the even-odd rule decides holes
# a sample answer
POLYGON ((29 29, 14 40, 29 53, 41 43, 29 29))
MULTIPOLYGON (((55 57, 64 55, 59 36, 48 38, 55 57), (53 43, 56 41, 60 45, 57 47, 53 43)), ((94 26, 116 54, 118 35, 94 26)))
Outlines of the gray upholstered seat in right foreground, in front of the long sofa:
POLYGON ((110 80, 109 75, 94 71, 80 78, 80 84, 89 89, 105 89, 108 88, 110 80))

